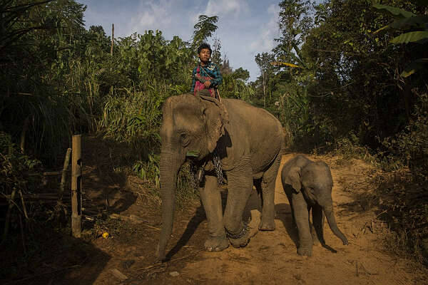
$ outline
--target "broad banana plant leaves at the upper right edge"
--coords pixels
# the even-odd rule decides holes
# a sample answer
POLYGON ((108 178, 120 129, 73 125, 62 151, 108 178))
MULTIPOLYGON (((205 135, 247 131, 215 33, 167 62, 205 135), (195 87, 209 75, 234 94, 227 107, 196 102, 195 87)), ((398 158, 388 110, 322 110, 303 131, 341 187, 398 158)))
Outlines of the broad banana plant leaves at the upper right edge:
MULTIPOLYGON (((428 0, 419 0, 419 2, 428 5, 428 0)), ((387 14, 390 14, 395 18, 392 23, 379 28, 377 31, 374 31, 374 34, 387 29, 399 30, 404 32, 399 36, 392 38, 392 40, 389 41, 390 43, 427 43, 428 15, 417 15, 397 7, 381 4, 373 4, 373 7, 379 11, 387 12, 387 14)), ((424 68, 424 65, 427 63, 428 58, 418 58, 417 60, 408 63, 407 66, 404 67, 401 76, 404 78, 409 77, 420 69, 424 68)))

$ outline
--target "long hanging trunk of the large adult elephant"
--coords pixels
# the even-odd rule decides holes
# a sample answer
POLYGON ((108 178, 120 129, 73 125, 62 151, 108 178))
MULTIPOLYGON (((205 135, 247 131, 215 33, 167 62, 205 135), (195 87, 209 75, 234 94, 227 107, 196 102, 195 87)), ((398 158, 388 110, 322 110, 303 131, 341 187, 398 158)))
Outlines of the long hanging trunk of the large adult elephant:
POLYGON ((177 154, 161 151, 161 199, 162 199, 162 229, 157 249, 158 261, 165 259, 165 249, 173 230, 173 217, 175 211, 175 187, 178 170, 183 165, 177 154))

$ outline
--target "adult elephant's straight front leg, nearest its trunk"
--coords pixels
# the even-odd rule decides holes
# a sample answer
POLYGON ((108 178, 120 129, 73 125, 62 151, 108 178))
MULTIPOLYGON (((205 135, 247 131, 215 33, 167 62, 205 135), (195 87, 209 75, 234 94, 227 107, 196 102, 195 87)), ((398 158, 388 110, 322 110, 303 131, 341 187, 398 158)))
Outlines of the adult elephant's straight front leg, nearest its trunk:
POLYGON ((217 177, 205 175, 205 187, 200 188, 200 199, 208 221, 209 236, 205 242, 205 249, 208 252, 220 252, 229 247, 229 241, 223 227, 223 209, 217 177))

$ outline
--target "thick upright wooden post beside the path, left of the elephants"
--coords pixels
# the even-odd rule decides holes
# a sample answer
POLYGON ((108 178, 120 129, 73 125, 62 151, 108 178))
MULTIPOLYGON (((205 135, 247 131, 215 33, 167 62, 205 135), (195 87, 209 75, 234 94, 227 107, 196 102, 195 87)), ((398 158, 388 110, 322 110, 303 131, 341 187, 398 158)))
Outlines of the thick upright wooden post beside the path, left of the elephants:
POLYGON ((73 157, 71 160, 71 232, 73 237, 81 237, 82 231, 82 158, 81 135, 73 135, 73 157))

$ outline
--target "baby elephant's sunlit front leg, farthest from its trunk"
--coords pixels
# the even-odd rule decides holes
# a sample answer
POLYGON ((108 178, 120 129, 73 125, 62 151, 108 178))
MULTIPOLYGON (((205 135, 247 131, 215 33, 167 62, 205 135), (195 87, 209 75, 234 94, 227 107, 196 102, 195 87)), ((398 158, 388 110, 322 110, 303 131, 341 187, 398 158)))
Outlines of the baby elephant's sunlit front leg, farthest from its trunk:
POLYGON ((309 228, 309 213, 302 192, 292 193, 292 209, 295 215, 297 232, 299 233, 299 247, 297 254, 312 256, 312 237, 309 228))

